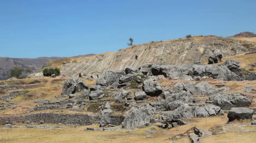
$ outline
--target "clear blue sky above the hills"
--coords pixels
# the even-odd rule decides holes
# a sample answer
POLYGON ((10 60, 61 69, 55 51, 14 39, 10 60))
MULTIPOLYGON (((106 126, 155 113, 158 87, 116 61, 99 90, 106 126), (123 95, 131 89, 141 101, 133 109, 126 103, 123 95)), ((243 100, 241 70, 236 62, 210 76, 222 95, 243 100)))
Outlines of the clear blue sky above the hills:
POLYGON ((256 33, 255 0, 0 0, 0 57, 114 52, 185 35, 256 33))

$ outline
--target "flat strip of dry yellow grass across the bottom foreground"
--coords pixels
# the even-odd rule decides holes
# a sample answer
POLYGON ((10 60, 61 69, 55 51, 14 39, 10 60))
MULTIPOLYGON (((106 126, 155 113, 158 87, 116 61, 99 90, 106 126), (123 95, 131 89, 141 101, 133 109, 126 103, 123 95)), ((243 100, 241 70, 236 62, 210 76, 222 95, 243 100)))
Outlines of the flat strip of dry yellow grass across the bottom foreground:
POLYGON ((153 134, 148 133, 148 130, 155 127, 154 125, 132 130, 131 133, 127 133, 127 129, 111 132, 82 130, 86 127, 98 127, 98 125, 56 128, 55 130, 0 127, 0 142, 170 142, 172 137, 184 134, 194 126, 208 130, 212 126, 226 123, 228 119, 216 116, 185 121, 188 122, 187 125, 170 130, 156 127, 153 134), (152 138, 146 138, 147 135, 151 135, 152 138))

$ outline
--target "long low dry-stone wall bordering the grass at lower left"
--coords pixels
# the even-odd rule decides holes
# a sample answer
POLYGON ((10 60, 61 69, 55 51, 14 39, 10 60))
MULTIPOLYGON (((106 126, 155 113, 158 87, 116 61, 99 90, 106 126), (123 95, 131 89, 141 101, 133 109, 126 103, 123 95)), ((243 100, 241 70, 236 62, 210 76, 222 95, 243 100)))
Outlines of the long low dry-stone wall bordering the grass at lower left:
MULTIPOLYGON (((112 125, 121 125, 124 116, 111 116, 112 125)), ((91 125, 92 123, 98 123, 100 116, 90 116, 86 114, 57 114, 57 113, 37 113, 30 115, 13 115, 13 116, 0 116, 0 125, 5 123, 24 123, 40 122, 44 123, 63 123, 68 125, 91 125)))

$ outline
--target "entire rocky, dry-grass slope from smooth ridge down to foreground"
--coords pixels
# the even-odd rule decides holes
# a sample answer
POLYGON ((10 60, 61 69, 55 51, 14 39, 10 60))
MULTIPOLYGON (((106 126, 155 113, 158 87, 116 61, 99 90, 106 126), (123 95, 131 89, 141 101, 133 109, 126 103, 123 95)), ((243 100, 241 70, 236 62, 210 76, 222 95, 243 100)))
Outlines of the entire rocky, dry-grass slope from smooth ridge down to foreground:
POLYGON ((0 81, 0 142, 254 142, 254 48, 193 36, 50 61, 61 76, 0 81))

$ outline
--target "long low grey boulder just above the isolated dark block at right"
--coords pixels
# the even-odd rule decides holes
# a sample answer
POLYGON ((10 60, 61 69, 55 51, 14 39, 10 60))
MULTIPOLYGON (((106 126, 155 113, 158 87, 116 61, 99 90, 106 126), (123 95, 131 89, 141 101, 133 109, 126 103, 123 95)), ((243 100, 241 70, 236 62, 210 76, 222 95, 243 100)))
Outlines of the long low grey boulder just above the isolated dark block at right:
POLYGON ((232 107, 249 107, 252 104, 251 100, 242 96, 240 93, 231 93, 225 95, 212 95, 209 97, 214 105, 218 105, 223 109, 230 109, 232 107))

